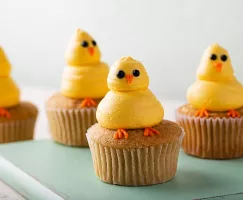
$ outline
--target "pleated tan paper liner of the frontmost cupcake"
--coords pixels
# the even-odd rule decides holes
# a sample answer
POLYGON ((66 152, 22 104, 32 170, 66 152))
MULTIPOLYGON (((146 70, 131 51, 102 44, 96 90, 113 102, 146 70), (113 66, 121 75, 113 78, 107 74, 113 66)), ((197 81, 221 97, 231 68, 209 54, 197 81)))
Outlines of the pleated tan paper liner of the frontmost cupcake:
MULTIPOLYGON (((87 138, 96 175, 102 181, 117 185, 140 186, 164 183, 175 176, 184 136, 182 129, 181 136, 175 141, 139 148, 104 146, 97 142, 97 138, 92 139, 92 131, 87 133, 87 138)), ((107 132, 104 134, 110 135, 107 132)), ((104 139, 109 141, 107 136, 101 141, 104 142, 104 139)), ((131 143, 133 141, 131 139, 131 143)))

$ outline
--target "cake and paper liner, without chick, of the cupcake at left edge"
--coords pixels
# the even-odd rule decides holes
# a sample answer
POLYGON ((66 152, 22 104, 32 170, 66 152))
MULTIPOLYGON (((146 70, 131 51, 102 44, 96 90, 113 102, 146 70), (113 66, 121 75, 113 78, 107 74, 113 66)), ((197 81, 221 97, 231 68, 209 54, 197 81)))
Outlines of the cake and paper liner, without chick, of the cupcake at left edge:
POLYGON ((0 143, 32 140, 37 108, 31 103, 21 102, 6 110, 11 117, 0 117, 0 143))

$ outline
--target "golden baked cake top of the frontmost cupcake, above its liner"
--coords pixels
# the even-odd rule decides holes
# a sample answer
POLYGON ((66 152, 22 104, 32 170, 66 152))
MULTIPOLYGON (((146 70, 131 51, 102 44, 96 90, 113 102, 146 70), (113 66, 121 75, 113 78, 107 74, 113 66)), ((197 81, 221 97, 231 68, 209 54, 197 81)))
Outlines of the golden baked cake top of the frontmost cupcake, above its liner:
POLYGON ((163 120, 161 123, 154 126, 154 129, 160 132, 156 137, 143 137, 144 129, 132 129, 129 130, 128 140, 114 140, 113 136, 116 133, 116 130, 103 128, 97 123, 88 130, 87 134, 88 137, 96 143, 116 149, 132 149, 168 144, 177 142, 184 136, 184 132, 178 124, 167 120, 163 120))

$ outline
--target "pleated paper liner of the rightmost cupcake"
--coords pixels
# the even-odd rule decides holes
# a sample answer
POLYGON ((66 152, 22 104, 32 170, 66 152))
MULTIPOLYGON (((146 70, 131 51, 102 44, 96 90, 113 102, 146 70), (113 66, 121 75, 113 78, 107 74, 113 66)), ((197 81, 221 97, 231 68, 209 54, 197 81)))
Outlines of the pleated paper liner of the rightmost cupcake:
POLYGON ((209 159, 243 157, 243 117, 200 118, 176 112, 186 135, 182 147, 190 155, 209 159))

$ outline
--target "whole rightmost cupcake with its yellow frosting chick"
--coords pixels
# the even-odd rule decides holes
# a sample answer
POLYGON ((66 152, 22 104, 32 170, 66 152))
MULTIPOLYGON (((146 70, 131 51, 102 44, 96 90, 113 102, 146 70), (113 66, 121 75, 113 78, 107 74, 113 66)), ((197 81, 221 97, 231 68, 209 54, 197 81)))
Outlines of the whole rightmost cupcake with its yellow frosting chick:
POLYGON ((243 157, 243 86, 227 50, 213 44, 203 54, 188 104, 176 111, 186 153, 209 159, 243 157))

